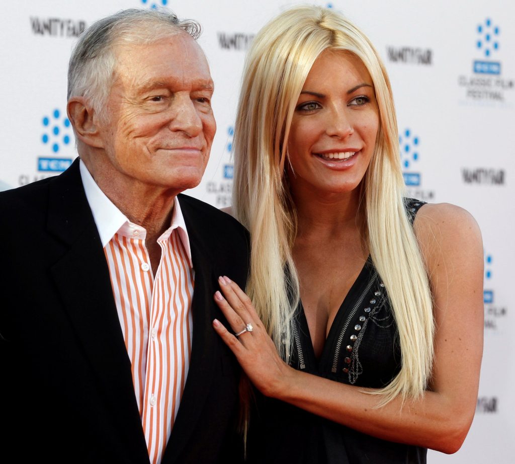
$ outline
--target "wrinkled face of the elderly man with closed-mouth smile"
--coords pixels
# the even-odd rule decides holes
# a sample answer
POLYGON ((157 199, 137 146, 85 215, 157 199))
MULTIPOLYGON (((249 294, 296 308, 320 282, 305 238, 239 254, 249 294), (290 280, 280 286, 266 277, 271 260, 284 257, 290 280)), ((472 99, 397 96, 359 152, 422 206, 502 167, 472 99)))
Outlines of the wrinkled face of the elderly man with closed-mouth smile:
POLYGON ((108 122, 99 127, 108 168, 127 187, 197 186, 216 131, 202 50, 179 32, 152 44, 119 45, 115 56, 108 122))

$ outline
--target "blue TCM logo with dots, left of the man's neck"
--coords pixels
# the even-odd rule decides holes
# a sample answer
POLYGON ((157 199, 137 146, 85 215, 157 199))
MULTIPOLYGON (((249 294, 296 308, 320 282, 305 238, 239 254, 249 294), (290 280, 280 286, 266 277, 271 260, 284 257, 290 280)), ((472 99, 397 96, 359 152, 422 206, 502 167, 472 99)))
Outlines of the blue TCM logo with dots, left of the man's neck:
MULTIPOLYGON (((62 115, 59 109, 55 109, 49 115, 44 115, 41 123, 43 125, 41 142, 43 145, 48 146, 50 151, 57 155, 64 147, 70 145, 70 120, 68 120, 66 115, 62 115)), ((38 171, 62 172, 70 164, 72 164, 71 158, 39 157, 38 171)))

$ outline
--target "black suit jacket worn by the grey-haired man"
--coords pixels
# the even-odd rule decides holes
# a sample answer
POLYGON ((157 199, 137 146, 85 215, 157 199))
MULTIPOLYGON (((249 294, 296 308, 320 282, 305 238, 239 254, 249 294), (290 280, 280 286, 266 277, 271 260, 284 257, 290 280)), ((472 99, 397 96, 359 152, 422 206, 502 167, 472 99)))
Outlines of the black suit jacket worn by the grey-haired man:
MULTIPOLYGON (((242 460, 239 367, 212 328, 217 276, 242 287, 248 235, 179 195, 195 269, 190 368, 163 464, 242 460)), ((0 193, 0 383, 17 462, 148 463, 130 361, 78 162, 0 193)))

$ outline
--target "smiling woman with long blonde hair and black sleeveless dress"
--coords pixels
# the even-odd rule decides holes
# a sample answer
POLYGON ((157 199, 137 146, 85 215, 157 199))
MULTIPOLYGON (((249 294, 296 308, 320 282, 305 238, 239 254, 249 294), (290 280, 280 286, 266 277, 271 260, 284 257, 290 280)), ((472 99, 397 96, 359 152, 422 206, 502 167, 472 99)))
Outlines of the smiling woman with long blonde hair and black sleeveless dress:
POLYGON ((425 462, 467 435, 480 232, 461 208, 403 198, 398 150, 388 76, 352 23, 303 6, 259 32, 234 142, 249 297, 220 277, 230 327, 213 322, 263 394, 250 461, 425 462))

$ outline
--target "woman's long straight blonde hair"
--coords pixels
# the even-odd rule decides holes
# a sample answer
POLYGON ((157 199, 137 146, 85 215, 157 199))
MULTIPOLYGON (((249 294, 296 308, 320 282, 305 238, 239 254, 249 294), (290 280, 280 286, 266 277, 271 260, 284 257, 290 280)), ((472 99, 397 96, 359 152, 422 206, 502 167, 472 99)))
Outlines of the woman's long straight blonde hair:
POLYGON ((291 249, 296 213, 285 162, 291 119, 307 74, 326 49, 353 53, 372 78, 380 127, 363 179, 365 236, 397 322, 402 366, 378 390, 379 404, 426 389, 433 361, 432 297, 403 202, 398 129, 388 75, 368 38, 333 10, 300 6, 281 13, 255 36, 248 53, 234 135, 233 211, 250 231, 248 293, 280 355, 291 353, 291 317, 299 280, 291 249))

